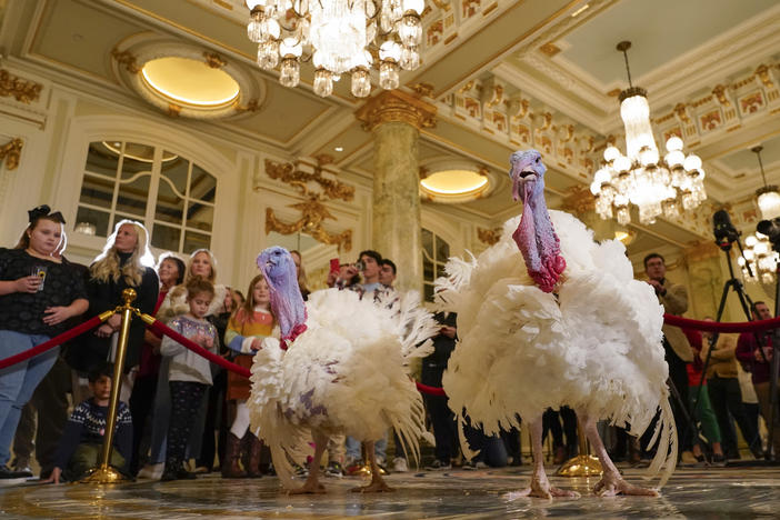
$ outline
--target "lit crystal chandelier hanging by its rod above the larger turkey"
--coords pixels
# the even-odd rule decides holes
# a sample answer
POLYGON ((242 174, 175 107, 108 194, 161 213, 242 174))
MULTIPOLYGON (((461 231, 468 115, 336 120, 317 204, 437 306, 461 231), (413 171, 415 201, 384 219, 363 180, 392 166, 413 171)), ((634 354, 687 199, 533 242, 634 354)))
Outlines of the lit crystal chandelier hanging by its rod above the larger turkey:
POLYGON ((661 157, 650 126, 647 91, 631 84, 628 64, 630 41, 618 43, 626 58, 629 88, 620 92, 620 117, 626 128, 626 154, 614 146, 604 150, 606 164, 599 169, 590 186, 596 196, 596 211, 602 219, 617 213, 622 226, 631 221, 629 202, 639 208, 639 221, 653 223, 656 217, 676 217, 680 207, 690 210, 706 198, 704 170, 701 159, 682 152, 682 139, 667 141, 667 154, 661 157))

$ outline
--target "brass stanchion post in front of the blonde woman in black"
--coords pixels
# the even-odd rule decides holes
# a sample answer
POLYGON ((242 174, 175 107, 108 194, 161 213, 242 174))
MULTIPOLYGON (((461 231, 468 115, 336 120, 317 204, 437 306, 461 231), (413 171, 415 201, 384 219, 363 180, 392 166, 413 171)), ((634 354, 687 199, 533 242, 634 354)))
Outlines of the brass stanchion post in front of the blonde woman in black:
POLYGON ((127 481, 128 478, 111 468, 111 451, 113 450, 113 433, 117 427, 117 409, 119 408, 119 391, 122 388, 122 372, 124 370, 124 356, 128 350, 128 339, 130 337, 130 322, 132 313, 138 312, 130 307, 136 299, 133 289, 122 291, 124 304, 119 308, 122 311, 122 328, 119 331, 117 343, 117 359, 113 364, 113 380, 111 381, 111 398, 109 400, 108 417, 106 419, 106 434, 103 436, 103 447, 100 452, 100 464, 91 469, 87 476, 80 480, 82 483, 117 483, 127 481))

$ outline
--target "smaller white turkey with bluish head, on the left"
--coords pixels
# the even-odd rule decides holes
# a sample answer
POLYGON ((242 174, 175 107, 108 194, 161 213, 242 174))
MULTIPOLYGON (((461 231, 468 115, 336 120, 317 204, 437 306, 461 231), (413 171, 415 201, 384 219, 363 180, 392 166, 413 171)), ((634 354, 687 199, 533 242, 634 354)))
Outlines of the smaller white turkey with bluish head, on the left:
POLYGON ((324 492, 318 483, 322 452, 331 434, 346 433, 367 443, 372 470, 371 483, 356 491, 390 491, 373 441, 394 428, 419 460, 424 409, 409 362, 431 351, 427 340, 438 324, 414 293, 374 303, 353 291, 328 289, 311 293, 304 307, 292 257, 283 248, 262 251, 258 267, 281 342, 268 338, 256 353, 247 404, 252 431, 270 447, 282 484, 291 492, 324 492), (308 440, 309 431, 314 457, 306 483, 293 489, 287 453, 308 440))

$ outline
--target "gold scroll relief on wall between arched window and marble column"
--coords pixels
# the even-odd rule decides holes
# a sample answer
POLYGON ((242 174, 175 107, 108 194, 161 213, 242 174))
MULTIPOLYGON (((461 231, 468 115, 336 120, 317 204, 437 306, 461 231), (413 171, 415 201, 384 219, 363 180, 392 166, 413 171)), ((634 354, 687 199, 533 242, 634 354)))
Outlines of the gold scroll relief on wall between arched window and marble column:
POLYGON ((336 244, 341 251, 350 251, 352 249, 352 230, 348 229, 341 233, 333 234, 326 231, 323 223, 326 220, 337 220, 333 214, 324 207, 322 194, 309 191, 307 183, 310 181, 317 182, 322 187, 326 199, 341 199, 347 202, 354 198, 354 188, 342 184, 339 181, 322 177, 321 166, 314 167, 312 173, 296 169, 292 163, 273 162, 266 159, 266 172, 271 179, 278 179, 282 182, 297 188, 306 198, 303 202, 290 204, 289 208, 297 209, 301 212, 301 218, 296 222, 286 223, 277 219, 273 209, 266 208, 266 234, 276 231, 281 234, 292 234, 303 231, 313 237, 317 241, 336 244))

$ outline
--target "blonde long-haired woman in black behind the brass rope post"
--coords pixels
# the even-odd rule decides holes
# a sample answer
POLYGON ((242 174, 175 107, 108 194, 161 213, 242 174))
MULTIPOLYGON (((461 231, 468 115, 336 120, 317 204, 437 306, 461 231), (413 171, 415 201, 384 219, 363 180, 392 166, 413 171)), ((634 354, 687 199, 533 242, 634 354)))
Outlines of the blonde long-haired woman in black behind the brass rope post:
MULTIPOLYGON (((128 288, 134 289, 137 293, 132 306, 141 312, 152 313, 159 290, 157 272, 151 268, 153 264, 154 258, 149 251, 149 233, 143 224, 134 220, 119 221, 113 233, 106 240, 103 251, 89 267, 88 316, 97 316, 123 304, 122 291, 128 288)), ((70 356, 71 367, 88 372, 104 363, 111 356, 114 341, 112 337, 119 331, 121 321, 120 314, 113 314, 94 333, 84 336, 81 348, 74 349, 76 352, 70 356)), ((136 319, 130 323, 126 373, 140 360, 144 329, 141 320, 136 319)))

